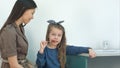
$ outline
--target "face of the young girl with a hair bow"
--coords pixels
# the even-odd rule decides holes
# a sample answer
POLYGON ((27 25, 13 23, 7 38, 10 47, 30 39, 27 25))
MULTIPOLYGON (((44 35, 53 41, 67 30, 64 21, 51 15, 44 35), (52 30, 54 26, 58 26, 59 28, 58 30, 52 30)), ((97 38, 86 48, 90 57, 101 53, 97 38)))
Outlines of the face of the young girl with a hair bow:
POLYGON ((52 27, 49 33, 49 43, 50 45, 57 46, 62 39, 63 32, 62 30, 52 27))

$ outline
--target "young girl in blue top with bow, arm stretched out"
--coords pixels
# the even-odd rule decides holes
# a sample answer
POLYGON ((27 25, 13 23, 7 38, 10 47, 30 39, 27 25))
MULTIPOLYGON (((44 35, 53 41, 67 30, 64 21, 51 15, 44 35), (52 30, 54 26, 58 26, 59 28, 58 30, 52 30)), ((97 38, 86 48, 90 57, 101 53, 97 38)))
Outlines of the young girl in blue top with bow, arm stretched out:
POLYGON ((66 46, 65 29, 60 24, 62 22, 48 21, 46 41, 40 43, 37 54, 38 68, 65 68, 66 55, 89 53, 91 58, 95 57, 95 52, 89 47, 66 46))

